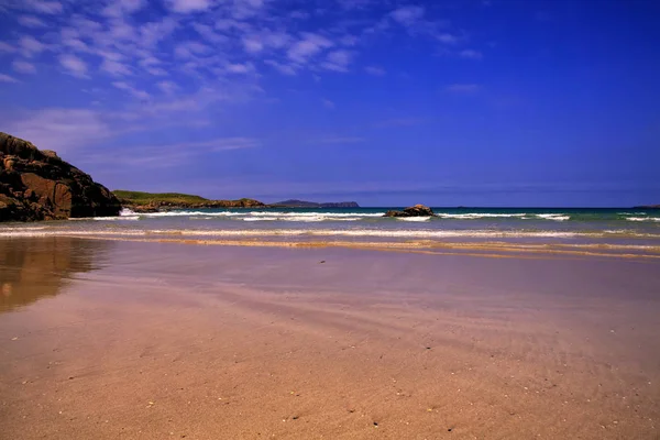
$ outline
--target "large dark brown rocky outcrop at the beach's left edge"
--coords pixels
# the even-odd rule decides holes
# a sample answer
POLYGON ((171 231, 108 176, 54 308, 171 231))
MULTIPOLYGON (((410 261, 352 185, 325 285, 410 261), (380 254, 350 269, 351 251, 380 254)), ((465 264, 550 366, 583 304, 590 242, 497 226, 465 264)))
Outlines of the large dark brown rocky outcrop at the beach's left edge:
POLYGON ((0 132, 0 221, 118 216, 119 200, 53 151, 0 132))

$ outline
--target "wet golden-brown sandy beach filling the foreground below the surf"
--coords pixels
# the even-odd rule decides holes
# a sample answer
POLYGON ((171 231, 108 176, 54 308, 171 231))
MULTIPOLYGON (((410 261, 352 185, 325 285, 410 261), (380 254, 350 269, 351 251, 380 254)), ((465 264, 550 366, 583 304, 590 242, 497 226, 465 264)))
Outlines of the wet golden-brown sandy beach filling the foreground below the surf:
POLYGON ((0 241, 0 438, 657 439, 659 264, 0 241))

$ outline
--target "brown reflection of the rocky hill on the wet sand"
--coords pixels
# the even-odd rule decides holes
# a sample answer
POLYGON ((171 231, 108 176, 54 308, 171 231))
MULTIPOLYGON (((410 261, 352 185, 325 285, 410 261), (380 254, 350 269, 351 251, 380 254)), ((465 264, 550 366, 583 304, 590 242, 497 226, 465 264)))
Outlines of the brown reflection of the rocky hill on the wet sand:
POLYGON ((69 237, 0 240, 0 312, 57 295, 74 274, 98 268, 111 245, 69 237))

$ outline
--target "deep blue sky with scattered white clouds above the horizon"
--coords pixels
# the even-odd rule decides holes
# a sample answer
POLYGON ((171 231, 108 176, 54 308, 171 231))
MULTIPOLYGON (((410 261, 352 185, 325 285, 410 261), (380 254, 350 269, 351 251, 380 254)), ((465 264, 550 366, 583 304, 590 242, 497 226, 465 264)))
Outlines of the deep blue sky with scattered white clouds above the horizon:
POLYGON ((653 0, 0 0, 0 131, 110 189, 660 204, 653 0))

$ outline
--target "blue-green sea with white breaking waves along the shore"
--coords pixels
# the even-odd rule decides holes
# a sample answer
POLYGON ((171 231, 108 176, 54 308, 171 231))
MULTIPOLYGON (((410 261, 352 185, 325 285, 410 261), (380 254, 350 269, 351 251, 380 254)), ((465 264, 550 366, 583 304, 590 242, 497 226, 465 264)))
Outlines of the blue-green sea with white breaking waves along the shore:
POLYGON ((195 209, 37 223, 4 223, 0 238, 248 243, 376 243, 610 249, 660 255, 660 209, 433 208, 437 217, 385 218, 383 208, 195 209))

